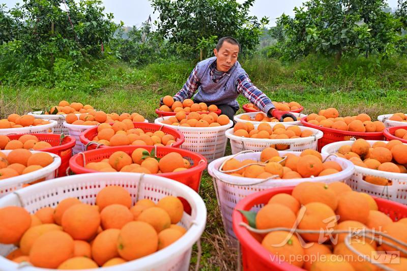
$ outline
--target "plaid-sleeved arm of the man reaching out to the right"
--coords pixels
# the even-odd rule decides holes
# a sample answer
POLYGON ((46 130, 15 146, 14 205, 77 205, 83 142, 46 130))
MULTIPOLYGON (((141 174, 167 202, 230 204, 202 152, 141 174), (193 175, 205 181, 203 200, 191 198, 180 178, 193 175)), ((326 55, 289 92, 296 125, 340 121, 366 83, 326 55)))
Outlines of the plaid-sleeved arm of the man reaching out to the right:
POLYGON ((258 109, 265 112, 268 117, 271 117, 271 112, 275 109, 274 104, 267 97, 266 94, 261 92, 253 83, 247 74, 243 74, 237 79, 237 90, 246 97, 251 103, 255 104, 258 109))

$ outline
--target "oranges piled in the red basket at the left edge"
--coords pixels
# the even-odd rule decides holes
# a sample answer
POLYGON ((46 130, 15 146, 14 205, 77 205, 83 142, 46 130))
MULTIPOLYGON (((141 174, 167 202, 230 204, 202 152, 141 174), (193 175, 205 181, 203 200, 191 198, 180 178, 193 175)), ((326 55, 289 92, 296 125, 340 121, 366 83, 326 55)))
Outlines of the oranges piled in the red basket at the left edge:
POLYGON ((5 135, 0 135, 0 149, 44 149, 52 147, 51 144, 45 141, 40 141, 35 135, 22 135, 18 140, 10 140, 5 135))

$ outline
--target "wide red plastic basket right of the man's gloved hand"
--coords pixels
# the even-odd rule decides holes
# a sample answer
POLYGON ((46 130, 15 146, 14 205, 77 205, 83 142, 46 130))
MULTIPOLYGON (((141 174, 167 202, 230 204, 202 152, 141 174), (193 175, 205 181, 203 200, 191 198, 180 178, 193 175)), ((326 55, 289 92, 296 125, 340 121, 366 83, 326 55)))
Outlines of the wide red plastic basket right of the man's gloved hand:
POLYGON ((313 125, 307 122, 307 117, 301 118, 301 124, 318 129, 324 132, 324 136, 318 140, 318 152, 321 152, 323 146, 328 145, 333 142, 350 140, 351 138, 363 138, 366 140, 384 140, 384 135, 382 132, 350 132, 350 131, 341 131, 332 128, 326 128, 322 126, 313 125))

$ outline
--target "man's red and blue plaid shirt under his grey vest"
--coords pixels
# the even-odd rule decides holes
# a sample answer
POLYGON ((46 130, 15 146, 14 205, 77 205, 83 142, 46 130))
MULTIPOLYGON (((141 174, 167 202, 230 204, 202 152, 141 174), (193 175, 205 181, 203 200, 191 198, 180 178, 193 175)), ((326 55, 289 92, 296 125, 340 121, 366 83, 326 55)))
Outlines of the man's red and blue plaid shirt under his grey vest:
MULTIPOLYGON (((220 77, 215 78, 216 61, 214 61, 210 66, 209 74, 212 80, 216 83, 223 76, 228 75, 229 72, 224 72, 220 77)), ((199 87, 199 78, 196 67, 192 70, 187 81, 181 90, 173 97, 176 101, 184 101, 185 99, 190 99, 199 87)), ((242 74, 238 77, 235 82, 236 91, 246 97, 251 103, 255 104, 261 111, 268 113, 270 109, 275 108, 271 100, 261 92, 253 83, 247 74, 242 74)))

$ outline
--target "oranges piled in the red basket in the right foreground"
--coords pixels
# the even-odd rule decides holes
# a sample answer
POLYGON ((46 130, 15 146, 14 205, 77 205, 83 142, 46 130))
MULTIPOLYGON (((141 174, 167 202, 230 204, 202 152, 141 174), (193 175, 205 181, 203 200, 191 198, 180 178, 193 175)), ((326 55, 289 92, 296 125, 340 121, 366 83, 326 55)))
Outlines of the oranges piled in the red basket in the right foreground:
MULTIPOLYGON (((370 229, 407 242, 406 218, 393 222, 378 210, 370 195, 352 191, 349 186, 340 182, 304 182, 296 186, 291 194, 276 194, 258 211, 255 224, 257 229, 291 229, 296 220, 299 222, 296 227, 299 230, 355 232, 370 229)), ((379 270, 346 247, 344 239, 347 233, 292 234, 283 230, 267 234, 251 233, 277 259, 306 270, 379 270)), ((383 240, 395 244, 387 237, 383 237, 383 240)), ((382 261, 388 267, 395 270, 407 269, 407 259, 404 258, 406 255, 402 252, 399 256, 393 255, 397 257, 392 258, 393 263, 384 261, 385 254, 379 253, 397 251, 387 244, 361 236, 352 237, 350 243, 356 251, 382 261)))

